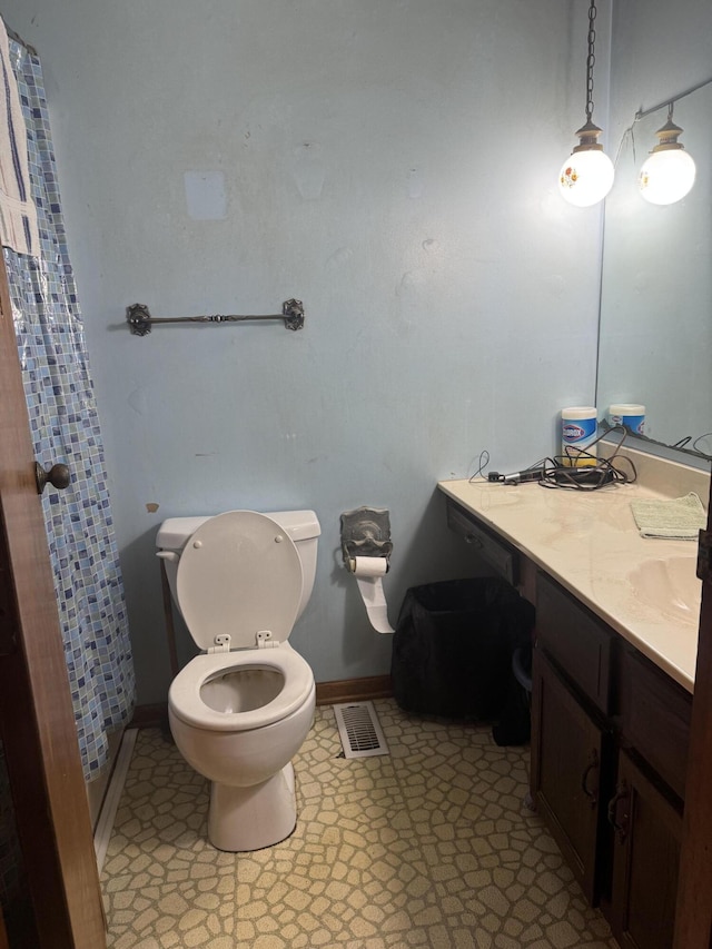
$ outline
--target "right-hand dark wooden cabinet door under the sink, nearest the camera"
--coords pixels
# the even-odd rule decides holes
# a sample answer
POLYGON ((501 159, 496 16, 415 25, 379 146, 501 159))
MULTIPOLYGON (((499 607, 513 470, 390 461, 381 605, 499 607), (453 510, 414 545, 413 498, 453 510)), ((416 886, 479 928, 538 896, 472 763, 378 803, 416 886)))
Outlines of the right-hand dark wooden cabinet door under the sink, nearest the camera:
POLYGON ((673 943, 682 817, 621 751, 614 827, 611 927, 622 949, 673 943))

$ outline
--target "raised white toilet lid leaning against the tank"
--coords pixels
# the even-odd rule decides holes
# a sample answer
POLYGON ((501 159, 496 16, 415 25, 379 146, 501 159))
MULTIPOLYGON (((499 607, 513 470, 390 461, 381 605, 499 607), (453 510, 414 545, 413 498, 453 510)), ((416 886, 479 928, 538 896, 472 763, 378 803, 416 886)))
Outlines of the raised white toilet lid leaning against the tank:
POLYGON ((230 649, 254 649, 263 630, 284 642, 301 599, 301 560, 291 537, 266 514, 218 514, 186 544, 176 599, 200 649, 226 634, 230 649))

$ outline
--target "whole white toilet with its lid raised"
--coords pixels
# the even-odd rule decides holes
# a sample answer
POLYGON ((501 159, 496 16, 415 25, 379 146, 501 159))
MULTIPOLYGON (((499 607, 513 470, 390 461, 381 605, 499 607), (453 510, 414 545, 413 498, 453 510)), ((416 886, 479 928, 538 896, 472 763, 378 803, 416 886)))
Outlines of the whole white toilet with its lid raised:
POLYGON ((316 690, 288 639, 314 587, 319 534, 314 511, 172 517, 158 531, 174 602, 202 650, 171 683, 170 730, 211 782, 208 839, 219 850, 270 847, 296 827, 291 759, 316 690))

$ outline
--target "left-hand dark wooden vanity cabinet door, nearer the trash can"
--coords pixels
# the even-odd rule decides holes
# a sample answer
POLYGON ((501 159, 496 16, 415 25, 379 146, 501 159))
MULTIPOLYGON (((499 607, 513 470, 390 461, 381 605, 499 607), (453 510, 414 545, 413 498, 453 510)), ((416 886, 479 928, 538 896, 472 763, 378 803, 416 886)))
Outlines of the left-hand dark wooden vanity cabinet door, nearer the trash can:
POLYGON ((599 899, 600 784, 607 739, 535 649, 532 795, 592 904, 599 899))

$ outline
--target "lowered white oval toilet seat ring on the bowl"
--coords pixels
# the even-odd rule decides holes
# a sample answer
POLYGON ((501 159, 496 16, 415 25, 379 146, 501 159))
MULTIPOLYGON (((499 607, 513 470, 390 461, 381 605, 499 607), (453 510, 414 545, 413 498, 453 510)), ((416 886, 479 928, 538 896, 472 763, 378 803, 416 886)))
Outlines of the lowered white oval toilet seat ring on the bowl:
POLYGON ((286 719, 304 704, 313 689, 314 673, 309 664, 289 645, 208 653, 197 655, 174 679, 168 704, 186 724, 211 731, 240 732, 286 719), (284 685, 275 699, 247 712, 217 712, 205 703, 200 690, 208 680, 250 669, 281 673, 284 685))

